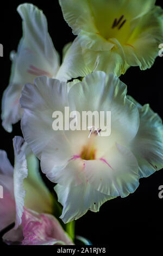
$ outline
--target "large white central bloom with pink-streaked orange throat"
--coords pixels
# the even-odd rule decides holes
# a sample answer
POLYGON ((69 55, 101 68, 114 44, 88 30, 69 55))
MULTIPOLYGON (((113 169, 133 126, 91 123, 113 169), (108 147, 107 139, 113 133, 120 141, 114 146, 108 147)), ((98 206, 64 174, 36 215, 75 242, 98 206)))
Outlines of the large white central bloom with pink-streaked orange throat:
MULTIPOLYGON (((126 96, 116 76, 94 72, 74 84, 38 77, 22 90, 22 131, 42 172, 58 183, 55 191, 69 222, 87 210, 98 211, 106 200, 126 197, 139 178, 163 167, 161 119, 148 105, 126 96), (54 111, 111 111, 111 135, 90 131, 54 131, 54 111)), ((99 127, 100 128, 100 127, 99 127)))

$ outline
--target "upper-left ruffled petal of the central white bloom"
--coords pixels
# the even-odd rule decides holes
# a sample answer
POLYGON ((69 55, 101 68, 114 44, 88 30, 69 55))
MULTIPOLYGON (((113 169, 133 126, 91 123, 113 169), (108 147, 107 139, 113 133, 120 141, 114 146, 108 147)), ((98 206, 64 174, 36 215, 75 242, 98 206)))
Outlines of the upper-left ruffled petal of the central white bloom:
POLYGON ((26 84, 20 99, 24 113, 21 121, 23 136, 37 157, 58 135, 52 129, 54 111, 64 113, 67 101, 66 83, 48 77, 37 77, 34 85, 26 84))

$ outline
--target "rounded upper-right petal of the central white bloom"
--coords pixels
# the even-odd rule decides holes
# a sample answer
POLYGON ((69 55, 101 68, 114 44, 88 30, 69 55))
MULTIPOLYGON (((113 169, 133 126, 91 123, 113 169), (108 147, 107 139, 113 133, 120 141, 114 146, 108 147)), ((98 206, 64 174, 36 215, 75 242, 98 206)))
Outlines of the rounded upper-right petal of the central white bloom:
POLYGON ((81 114, 82 111, 104 111, 106 115, 106 111, 111 111, 111 136, 116 137, 116 142, 122 138, 129 141, 139 129, 139 112, 126 93, 126 85, 116 76, 97 71, 73 86, 68 100, 70 108, 81 114))

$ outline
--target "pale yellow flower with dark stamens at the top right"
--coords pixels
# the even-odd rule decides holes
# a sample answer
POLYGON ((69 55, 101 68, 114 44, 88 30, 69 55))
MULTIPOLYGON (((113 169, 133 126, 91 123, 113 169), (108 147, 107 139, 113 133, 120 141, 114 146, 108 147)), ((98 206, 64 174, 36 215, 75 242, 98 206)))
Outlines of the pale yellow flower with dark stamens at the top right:
POLYGON ((163 41, 163 11, 154 5, 155 0, 59 2, 65 20, 78 35, 82 57, 91 71, 120 76, 130 66, 151 68, 163 41))

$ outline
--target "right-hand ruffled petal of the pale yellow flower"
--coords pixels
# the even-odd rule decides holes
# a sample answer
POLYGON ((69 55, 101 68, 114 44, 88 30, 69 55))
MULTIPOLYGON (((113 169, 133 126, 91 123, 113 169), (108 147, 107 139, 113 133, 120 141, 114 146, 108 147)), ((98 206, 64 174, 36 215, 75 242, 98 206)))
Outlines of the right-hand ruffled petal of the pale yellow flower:
POLYGON ((163 10, 155 7, 151 12, 141 17, 133 28, 133 33, 123 45, 126 61, 130 66, 140 66, 141 70, 151 68, 158 46, 163 41, 163 10))

